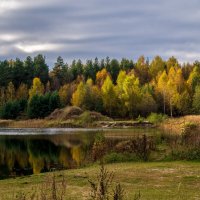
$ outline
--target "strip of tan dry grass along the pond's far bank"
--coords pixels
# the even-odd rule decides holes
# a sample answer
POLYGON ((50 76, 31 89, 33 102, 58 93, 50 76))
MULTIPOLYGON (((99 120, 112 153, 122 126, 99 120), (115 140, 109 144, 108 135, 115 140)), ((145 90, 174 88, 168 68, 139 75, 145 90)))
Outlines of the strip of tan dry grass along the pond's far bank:
POLYGON ((0 128, 96 128, 96 129, 129 129, 129 128, 158 128, 166 132, 180 134, 187 128, 200 130, 200 115, 187 115, 177 118, 168 118, 163 122, 151 123, 136 120, 105 120, 83 122, 76 119, 50 120, 0 120, 0 128))

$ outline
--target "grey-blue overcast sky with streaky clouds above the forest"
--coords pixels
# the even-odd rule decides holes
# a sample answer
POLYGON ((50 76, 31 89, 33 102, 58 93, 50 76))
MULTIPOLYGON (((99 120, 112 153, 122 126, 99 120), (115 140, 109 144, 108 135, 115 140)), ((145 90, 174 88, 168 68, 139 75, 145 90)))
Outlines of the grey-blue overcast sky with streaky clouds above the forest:
POLYGON ((0 59, 200 60, 199 0, 0 0, 0 59))

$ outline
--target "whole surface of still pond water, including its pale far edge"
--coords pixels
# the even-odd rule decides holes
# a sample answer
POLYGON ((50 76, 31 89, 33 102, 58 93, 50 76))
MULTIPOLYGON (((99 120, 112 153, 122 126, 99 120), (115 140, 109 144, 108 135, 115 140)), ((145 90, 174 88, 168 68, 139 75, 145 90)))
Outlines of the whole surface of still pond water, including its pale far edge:
POLYGON ((159 131, 0 129, 0 179, 81 167, 95 162, 105 149, 144 134, 152 137, 159 131))

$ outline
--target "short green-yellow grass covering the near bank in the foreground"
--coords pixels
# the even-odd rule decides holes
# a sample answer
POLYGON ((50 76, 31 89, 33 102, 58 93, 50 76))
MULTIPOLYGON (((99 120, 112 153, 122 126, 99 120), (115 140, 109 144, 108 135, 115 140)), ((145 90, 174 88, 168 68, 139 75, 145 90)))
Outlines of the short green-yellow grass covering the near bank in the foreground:
MULTIPOLYGON (((144 200, 192 200, 200 199, 200 163, 195 162, 154 162, 119 163, 106 165, 114 172, 114 182, 121 183, 126 199, 134 199, 140 191, 144 200)), ((88 199, 90 191, 88 177, 95 179, 99 166, 55 172, 56 180, 64 173, 67 179, 66 199, 88 199)), ((6 179, 0 181, 0 199, 13 199, 19 192, 34 192, 46 176, 51 173, 6 179)))

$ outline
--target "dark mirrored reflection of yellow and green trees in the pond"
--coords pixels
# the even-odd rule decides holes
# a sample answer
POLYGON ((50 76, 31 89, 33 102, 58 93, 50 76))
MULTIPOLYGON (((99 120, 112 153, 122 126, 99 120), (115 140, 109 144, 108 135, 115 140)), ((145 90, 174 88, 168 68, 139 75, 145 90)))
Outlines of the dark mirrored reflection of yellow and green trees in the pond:
POLYGON ((0 136, 0 178, 77 167, 84 163, 96 134, 0 136))

